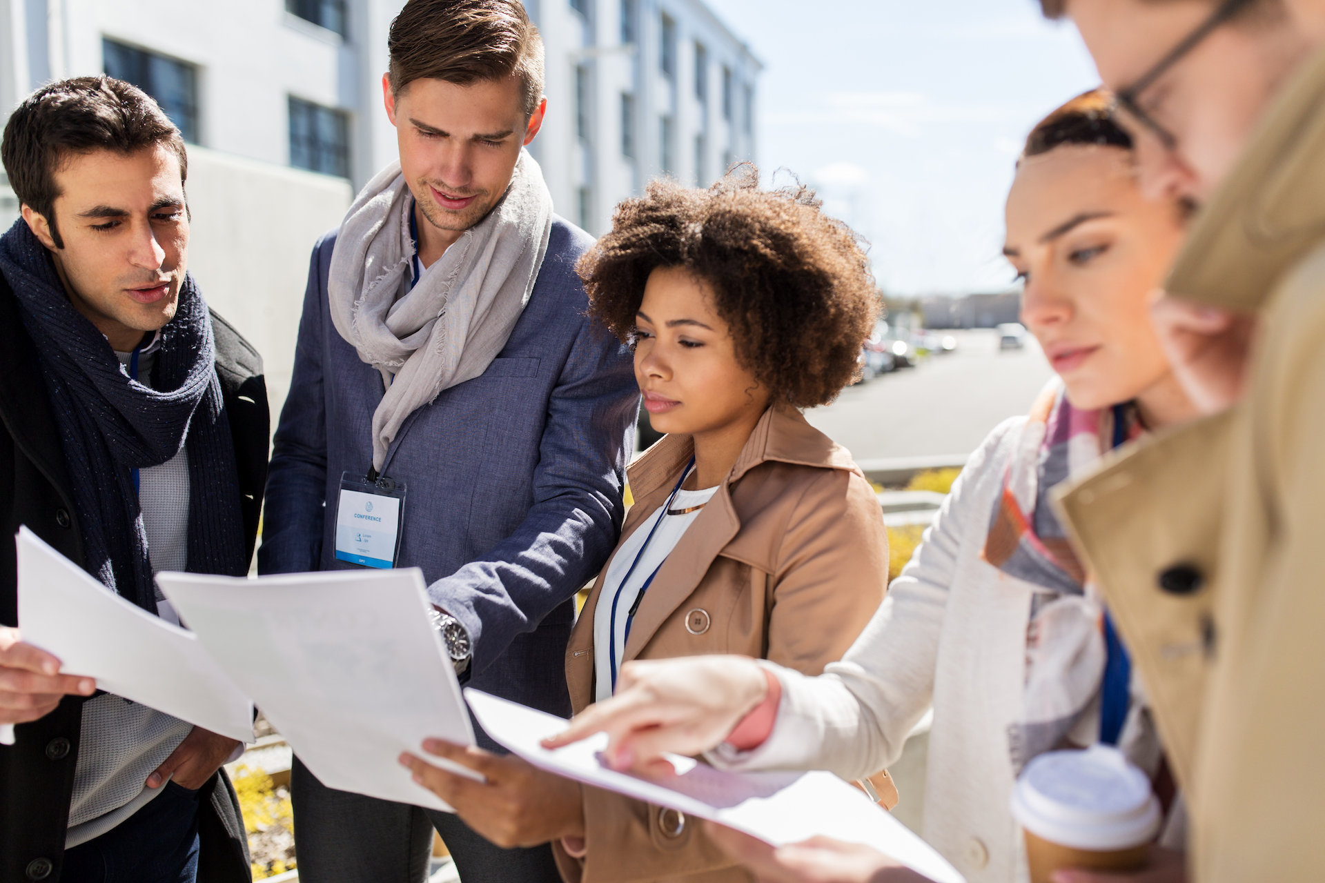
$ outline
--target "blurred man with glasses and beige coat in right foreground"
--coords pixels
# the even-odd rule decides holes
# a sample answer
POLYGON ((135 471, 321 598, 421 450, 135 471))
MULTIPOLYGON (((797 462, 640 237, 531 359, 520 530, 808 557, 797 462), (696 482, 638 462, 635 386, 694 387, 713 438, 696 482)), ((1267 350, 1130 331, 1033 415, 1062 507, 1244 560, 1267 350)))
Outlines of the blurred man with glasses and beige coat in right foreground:
POLYGON ((1061 506, 1190 798, 1190 876, 1321 879, 1325 3, 1065 5, 1146 187, 1203 204, 1154 315, 1210 416, 1061 506))

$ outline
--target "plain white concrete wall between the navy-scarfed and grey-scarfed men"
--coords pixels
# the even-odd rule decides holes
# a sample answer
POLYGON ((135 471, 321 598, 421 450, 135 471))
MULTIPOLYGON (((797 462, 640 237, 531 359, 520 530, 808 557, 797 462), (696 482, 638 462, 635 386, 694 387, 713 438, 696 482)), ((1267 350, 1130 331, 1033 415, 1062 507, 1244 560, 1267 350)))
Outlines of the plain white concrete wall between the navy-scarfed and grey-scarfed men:
POLYGON ((187 192, 189 271, 262 353, 274 429, 290 389, 309 256, 350 208, 350 183, 191 147, 187 192))

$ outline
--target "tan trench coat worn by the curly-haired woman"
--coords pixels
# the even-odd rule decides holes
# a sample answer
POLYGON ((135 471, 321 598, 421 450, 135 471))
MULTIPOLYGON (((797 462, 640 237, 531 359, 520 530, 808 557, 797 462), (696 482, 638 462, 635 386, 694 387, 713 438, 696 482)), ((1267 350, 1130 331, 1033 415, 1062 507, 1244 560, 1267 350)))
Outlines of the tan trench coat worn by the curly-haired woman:
MULTIPOLYGON (((692 451, 689 437, 668 436, 629 467, 635 506, 623 543, 666 500, 692 451)), ((607 569, 566 651, 576 712, 594 700, 594 612, 607 569)), ((771 408, 659 571, 623 661, 737 653, 816 675, 855 642, 886 585, 888 537, 873 488, 799 412, 771 408)), ((570 883, 751 879, 697 819, 672 810, 586 788, 584 822, 583 860, 554 846, 570 883)))

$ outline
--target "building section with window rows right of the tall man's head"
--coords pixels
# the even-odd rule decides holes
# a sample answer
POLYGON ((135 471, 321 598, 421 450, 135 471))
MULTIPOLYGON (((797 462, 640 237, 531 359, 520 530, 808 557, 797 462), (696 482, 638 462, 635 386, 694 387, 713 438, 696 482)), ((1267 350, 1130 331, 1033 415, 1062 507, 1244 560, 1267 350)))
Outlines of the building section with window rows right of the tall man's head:
POLYGON ((531 151, 558 213, 595 236, 670 175, 708 185, 755 158, 762 65, 700 0, 529 0, 547 48, 531 151))

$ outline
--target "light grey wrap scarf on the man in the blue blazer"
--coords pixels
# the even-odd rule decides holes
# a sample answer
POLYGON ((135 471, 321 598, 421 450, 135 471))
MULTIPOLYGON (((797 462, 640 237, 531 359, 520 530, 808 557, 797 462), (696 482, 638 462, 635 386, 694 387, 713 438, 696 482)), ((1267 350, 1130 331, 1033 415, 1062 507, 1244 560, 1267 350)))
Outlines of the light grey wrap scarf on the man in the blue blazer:
POLYGON ((488 369, 506 346, 547 253, 553 197, 538 163, 521 150, 510 185, 413 289, 412 200, 392 163, 350 207, 327 277, 331 322, 382 372, 372 416, 372 467, 382 470, 405 418, 448 387, 488 369))

